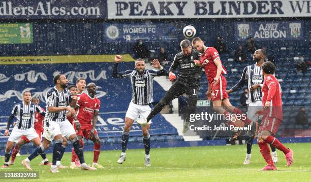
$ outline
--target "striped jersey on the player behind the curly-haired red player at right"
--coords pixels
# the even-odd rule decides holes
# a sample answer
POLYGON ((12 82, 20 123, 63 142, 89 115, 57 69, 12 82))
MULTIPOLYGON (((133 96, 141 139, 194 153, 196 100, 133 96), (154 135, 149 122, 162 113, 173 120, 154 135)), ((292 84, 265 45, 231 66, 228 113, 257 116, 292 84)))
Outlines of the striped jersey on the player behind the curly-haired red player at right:
POLYGON ((244 68, 242 77, 240 81, 232 87, 232 91, 235 92, 241 89, 247 82, 248 88, 248 100, 254 102, 257 100, 262 100, 261 87, 257 88, 253 93, 250 92, 251 87, 255 84, 263 84, 264 78, 262 75, 261 66, 256 66, 255 64, 248 65, 244 68))

